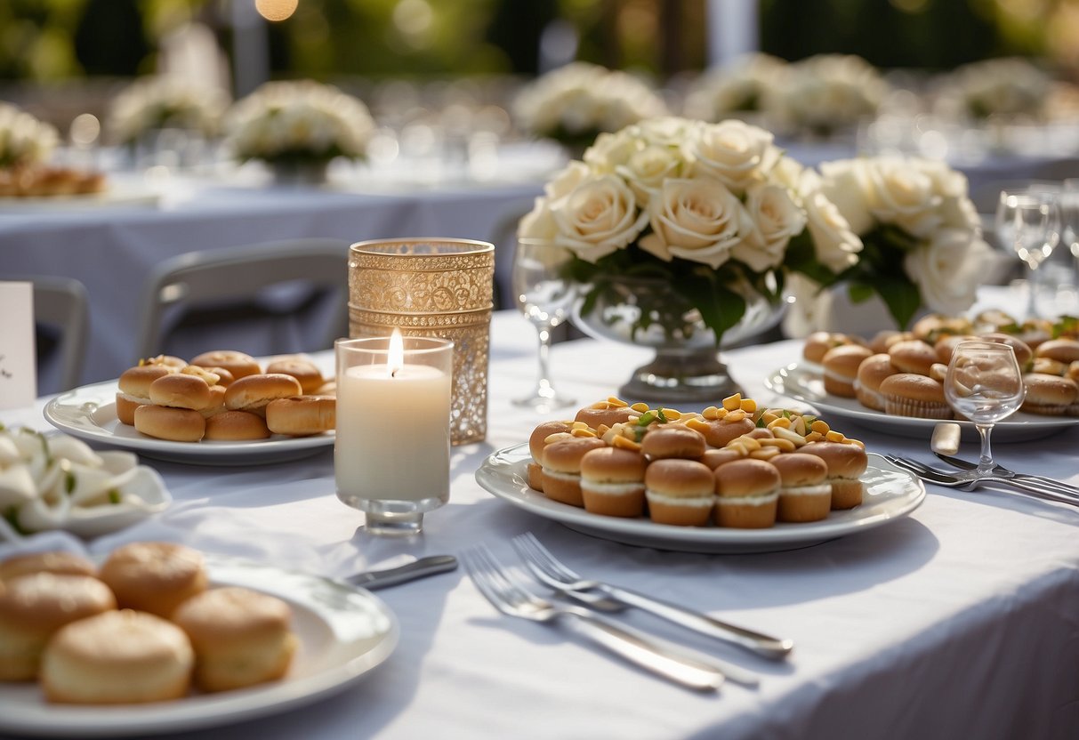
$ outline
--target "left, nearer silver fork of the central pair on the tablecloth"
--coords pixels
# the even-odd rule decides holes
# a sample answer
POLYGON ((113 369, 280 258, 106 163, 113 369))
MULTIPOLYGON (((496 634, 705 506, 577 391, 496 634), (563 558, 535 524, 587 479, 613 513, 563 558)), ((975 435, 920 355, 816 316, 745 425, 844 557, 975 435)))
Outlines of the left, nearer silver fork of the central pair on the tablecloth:
POLYGON ((541 599, 516 583, 483 545, 463 552, 462 561, 476 588, 503 614, 546 623, 573 619, 582 634, 609 652, 677 684, 701 691, 714 691, 723 684, 724 675, 718 668, 677 654, 586 608, 541 599))

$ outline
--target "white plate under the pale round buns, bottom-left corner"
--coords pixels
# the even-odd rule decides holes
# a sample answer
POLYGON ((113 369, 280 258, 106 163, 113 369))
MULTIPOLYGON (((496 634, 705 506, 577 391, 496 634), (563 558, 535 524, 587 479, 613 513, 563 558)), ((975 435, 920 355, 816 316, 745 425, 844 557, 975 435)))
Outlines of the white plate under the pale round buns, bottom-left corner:
POLYGON ((318 576, 206 557, 215 586, 244 586, 284 599, 299 649, 281 681, 149 704, 52 704, 37 684, 0 684, 0 731, 39 737, 178 732, 276 714, 346 688, 397 646, 393 612, 369 591, 318 576))

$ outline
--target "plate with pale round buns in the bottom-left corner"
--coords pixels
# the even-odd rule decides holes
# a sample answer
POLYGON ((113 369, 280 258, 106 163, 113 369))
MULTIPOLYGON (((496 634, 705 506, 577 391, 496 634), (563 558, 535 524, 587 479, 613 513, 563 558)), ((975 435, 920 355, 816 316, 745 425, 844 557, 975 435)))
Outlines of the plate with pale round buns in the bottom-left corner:
POLYGON ((174 543, 0 561, 0 732, 122 737, 283 712, 393 653, 397 620, 337 580, 174 543))

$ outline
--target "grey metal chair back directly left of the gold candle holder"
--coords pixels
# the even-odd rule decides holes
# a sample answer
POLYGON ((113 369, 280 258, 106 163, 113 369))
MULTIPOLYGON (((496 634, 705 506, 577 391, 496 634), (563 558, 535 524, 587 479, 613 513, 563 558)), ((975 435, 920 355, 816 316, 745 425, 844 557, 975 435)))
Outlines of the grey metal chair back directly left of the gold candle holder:
POLYGON ((327 350, 349 334, 349 243, 306 238, 179 255, 147 277, 141 306, 133 361, 327 350))

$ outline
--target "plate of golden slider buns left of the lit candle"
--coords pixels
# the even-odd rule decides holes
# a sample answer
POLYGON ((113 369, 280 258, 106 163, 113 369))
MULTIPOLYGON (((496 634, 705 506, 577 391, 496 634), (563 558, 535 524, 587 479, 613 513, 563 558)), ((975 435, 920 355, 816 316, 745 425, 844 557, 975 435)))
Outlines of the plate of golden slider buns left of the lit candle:
POLYGON ((302 356, 259 362, 234 350, 190 361, 161 355, 117 381, 52 399, 45 419, 67 434, 148 457, 206 465, 288 461, 332 447, 332 382, 302 356))

